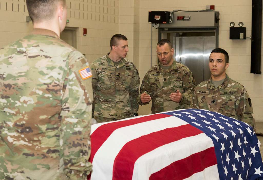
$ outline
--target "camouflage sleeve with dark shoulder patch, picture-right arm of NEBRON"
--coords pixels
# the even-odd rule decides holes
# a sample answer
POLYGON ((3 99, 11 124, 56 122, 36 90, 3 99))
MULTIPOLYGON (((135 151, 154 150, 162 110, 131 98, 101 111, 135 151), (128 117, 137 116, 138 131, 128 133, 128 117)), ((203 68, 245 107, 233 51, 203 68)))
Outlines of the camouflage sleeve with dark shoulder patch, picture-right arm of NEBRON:
POLYGON ((252 102, 245 89, 241 92, 239 98, 236 100, 235 106, 236 106, 236 114, 238 120, 249 124, 255 130, 256 124, 255 124, 255 119, 252 116, 253 113, 252 102))

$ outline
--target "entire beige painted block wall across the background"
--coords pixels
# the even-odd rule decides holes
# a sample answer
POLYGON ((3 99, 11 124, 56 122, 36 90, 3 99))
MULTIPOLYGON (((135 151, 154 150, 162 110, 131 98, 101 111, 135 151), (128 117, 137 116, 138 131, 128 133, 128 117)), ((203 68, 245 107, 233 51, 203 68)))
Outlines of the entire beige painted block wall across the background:
MULTIPOLYGON (((220 12, 219 47, 230 55, 227 73, 245 86, 252 99, 256 121, 263 121, 263 78, 250 73, 251 41, 229 39, 231 21, 236 25, 242 21, 247 28, 247 36, 250 36, 250 0, 67 0, 67 5, 70 20, 67 26, 78 28, 78 50, 92 62, 109 52, 109 40, 113 34, 124 34, 130 48, 127 57, 135 63, 141 80, 150 68, 151 24, 148 24, 148 11, 199 10, 206 5, 215 5, 220 12), (88 29, 87 36, 83 36, 83 28, 88 29)), ((25 0, 0 0, 0 47, 32 30, 32 23, 26 22, 27 15, 25 0)), ((153 28, 153 65, 157 63, 157 41, 158 30, 153 28)), ((262 68, 263 65, 261 71, 262 68)), ((150 105, 140 106, 139 112, 149 114, 150 105)))

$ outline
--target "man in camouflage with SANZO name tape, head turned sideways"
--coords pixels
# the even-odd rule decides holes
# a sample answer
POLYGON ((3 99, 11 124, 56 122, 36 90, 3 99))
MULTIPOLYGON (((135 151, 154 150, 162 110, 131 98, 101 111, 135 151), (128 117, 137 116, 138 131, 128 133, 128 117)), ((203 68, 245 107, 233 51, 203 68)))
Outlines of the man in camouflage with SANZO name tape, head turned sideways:
POLYGON ((98 123, 137 115, 140 78, 133 62, 126 57, 128 41, 115 34, 110 40, 110 52, 92 62, 94 118, 98 123))

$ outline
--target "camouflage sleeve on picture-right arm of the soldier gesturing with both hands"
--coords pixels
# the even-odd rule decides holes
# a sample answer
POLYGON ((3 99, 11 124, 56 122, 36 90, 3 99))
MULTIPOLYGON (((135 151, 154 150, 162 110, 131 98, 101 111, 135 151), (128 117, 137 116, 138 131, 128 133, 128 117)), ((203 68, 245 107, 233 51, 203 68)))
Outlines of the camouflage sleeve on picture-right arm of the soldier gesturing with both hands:
POLYGON ((195 91, 196 82, 192 72, 187 68, 186 73, 183 77, 183 89, 182 99, 179 104, 188 104, 190 105, 193 93, 195 91))

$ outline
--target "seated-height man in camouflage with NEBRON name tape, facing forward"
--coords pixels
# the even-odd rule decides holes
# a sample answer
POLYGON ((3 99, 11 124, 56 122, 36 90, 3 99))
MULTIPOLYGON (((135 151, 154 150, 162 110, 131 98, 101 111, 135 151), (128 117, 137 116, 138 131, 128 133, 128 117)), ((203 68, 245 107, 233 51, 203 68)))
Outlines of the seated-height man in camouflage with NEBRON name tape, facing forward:
POLYGON ((226 74, 229 56, 224 49, 214 49, 209 57, 211 77, 195 89, 191 108, 207 109, 246 122, 255 129, 251 99, 240 83, 226 74))

